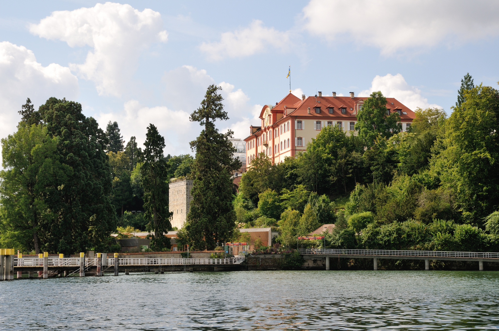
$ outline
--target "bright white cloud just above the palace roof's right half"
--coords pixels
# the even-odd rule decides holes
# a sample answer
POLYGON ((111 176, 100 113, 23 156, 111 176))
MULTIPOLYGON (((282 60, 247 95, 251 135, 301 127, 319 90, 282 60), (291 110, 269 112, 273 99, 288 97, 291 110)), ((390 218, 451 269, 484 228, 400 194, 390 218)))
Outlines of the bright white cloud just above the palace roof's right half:
POLYGON ((428 107, 442 108, 439 105, 430 104, 428 99, 421 95, 421 90, 407 84, 401 74, 395 76, 392 74, 386 76, 377 75, 374 77, 371 87, 368 90, 361 91, 359 96, 367 97, 374 91, 381 91, 387 98, 397 99, 411 110, 415 110, 417 107, 423 109, 428 107))

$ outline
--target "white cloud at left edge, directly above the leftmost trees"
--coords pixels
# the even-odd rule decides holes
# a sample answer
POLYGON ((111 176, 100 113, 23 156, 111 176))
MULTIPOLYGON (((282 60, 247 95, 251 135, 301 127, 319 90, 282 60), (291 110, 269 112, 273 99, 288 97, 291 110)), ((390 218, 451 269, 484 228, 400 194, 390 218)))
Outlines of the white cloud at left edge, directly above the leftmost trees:
POLYGON ((0 42, 0 138, 16 130, 21 105, 30 98, 35 109, 50 97, 74 100, 78 79, 67 67, 36 62, 33 52, 8 41, 0 42))

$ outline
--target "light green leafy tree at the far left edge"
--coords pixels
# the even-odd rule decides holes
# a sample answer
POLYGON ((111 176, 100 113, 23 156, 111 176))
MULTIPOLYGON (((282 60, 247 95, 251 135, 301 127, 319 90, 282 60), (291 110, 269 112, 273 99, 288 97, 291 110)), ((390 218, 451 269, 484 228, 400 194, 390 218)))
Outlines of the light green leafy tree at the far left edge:
POLYGON ((55 217, 46 205, 44 185, 51 175, 71 171, 54 158, 58 139, 50 138, 43 125, 27 122, 19 122, 17 132, 1 140, 0 244, 40 253, 40 224, 55 217))

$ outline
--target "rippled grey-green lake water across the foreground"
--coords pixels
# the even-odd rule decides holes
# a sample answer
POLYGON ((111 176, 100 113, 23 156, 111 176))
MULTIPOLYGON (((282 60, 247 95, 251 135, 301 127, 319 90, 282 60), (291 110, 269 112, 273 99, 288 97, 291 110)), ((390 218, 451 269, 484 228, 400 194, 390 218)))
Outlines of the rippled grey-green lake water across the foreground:
POLYGON ((253 271, 0 282, 1 330, 498 330, 499 272, 253 271))

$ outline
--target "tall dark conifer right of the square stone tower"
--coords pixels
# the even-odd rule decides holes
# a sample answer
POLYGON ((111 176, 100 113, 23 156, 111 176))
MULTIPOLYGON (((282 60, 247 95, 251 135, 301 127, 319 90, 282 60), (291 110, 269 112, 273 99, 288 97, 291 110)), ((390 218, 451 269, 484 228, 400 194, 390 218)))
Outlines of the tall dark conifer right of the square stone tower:
POLYGON ((217 93, 221 89, 210 85, 201 107, 190 117, 205 127, 198 139, 191 142, 196 161, 191 171, 193 200, 186 224, 189 239, 199 250, 221 246, 233 236, 236 227, 231 171, 239 169, 241 162, 234 158, 236 149, 229 141, 234 133, 229 130, 221 134, 215 128, 217 119, 229 119, 223 98, 217 93))

